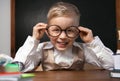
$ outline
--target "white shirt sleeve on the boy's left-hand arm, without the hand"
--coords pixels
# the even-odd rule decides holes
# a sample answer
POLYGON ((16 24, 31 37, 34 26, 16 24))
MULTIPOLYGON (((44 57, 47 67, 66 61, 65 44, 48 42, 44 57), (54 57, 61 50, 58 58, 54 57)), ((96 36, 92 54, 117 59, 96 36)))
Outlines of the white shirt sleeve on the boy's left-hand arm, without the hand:
POLYGON ((35 40, 31 36, 28 36, 23 46, 20 47, 17 51, 14 62, 23 63, 23 71, 31 71, 40 62, 42 48, 38 50, 38 44, 38 40, 35 40))

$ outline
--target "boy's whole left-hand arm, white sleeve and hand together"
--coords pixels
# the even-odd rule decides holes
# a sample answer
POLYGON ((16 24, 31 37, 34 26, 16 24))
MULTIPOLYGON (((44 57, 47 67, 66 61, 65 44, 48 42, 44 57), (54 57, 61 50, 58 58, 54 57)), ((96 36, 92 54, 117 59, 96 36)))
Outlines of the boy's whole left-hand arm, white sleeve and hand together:
POLYGON ((15 61, 21 62, 24 65, 23 71, 31 71, 38 65, 41 59, 43 46, 43 43, 39 44, 38 40, 40 40, 43 37, 46 25, 47 24, 44 23, 36 24, 33 27, 32 37, 28 36, 23 46, 20 47, 19 50, 17 51, 16 56, 14 58, 14 62, 15 61))

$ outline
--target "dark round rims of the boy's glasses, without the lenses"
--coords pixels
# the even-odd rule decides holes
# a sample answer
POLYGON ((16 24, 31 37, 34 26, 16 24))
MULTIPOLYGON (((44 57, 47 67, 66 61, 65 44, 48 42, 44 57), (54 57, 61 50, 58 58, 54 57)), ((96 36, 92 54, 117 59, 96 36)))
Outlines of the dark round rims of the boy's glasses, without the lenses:
POLYGON ((46 30, 47 30, 48 34, 49 34, 50 36, 52 36, 52 37, 58 37, 58 36, 62 33, 62 31, 64 31, 65 34, 66 34, 66 36, 69 37, 69 38, 76 38, 76 37, 79 36, 79 33, 80 33, 80 30, 78 29, 78 26, 69 26, 69 27, 67 27, 66 29, 63 30, 63 29, 61 29, 61 27, 58 26, 58 25, 48 25, 48 26, 46 27, 46 30), (56 26, 56 27, 58 27, 58 28, 60 29, 60 33, 59 33, 57 36, 52 36, 52 35, 49 33, 49 28, 50 28, 51 26, 56 26), (78 33, 76 34, 75 37, 70 37, 70 36, 67 34, 67 30, 68 30, 70 27, 75 27, 76 30, 78 30, 78 33))

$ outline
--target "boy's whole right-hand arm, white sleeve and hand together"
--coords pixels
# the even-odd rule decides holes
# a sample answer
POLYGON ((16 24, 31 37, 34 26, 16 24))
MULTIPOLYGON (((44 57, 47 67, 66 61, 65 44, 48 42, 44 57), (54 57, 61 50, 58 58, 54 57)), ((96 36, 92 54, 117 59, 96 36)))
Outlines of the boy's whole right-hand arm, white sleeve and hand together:
POLYGON ((80 37, 85 42, 86 61, 104 69, 112 69, 113 52, 102 43, 99 37, 93 37, 92 30, 85 27, 79 27, 79 29, 80 37))

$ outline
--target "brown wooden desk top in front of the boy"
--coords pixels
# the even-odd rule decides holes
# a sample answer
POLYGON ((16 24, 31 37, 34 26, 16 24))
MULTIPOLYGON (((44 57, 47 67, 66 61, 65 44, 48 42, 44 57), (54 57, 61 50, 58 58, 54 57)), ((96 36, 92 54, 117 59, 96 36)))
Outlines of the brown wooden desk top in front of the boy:
POLYGON ((111 78, 106 70, 41 71, 35 72, 33 81, 120 81, 111 78))

